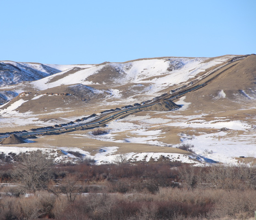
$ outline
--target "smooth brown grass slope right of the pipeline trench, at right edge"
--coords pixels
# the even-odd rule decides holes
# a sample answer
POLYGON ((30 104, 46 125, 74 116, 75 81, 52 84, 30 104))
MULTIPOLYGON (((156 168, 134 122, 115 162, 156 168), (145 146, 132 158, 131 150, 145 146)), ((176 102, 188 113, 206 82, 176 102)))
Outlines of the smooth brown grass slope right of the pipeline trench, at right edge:
POLYGON ((186 95, 192 111, 236 110, 255 103, 256 55, 250 55, 224 71, 213 81, 186 95), (225 94, 224 94, 225 93, 225 94))

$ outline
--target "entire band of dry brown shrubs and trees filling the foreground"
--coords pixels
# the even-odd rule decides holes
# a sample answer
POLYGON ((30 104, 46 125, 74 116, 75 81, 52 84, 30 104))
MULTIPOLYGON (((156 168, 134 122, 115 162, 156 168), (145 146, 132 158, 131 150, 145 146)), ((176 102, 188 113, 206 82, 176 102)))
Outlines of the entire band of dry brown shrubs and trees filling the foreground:
POLYGON ((84 161, 49 167, 42 156, 21 155, 0 166, 0 220, 252 219, 256 210, 252 166, 84 161), (17 175, 24 167, 31 171, 26 179, 38 184, 17 175))

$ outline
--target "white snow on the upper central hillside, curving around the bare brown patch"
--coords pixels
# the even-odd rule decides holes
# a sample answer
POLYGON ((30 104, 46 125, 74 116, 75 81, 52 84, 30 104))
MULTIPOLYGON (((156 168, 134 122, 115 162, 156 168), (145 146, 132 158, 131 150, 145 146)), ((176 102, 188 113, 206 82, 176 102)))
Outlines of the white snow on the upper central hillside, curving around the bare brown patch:
MULTIPOLYGON (((229 59, 226 57, 223 59, 229 59)), ((163 59, 146 59, 139 61, 131 61, 128 63, 107 63, 98 66, 87 66, 86 69, 78 70, 75 73, 59 78, 69 70, 56 73, 53 76, 46 77, 32 84, 35 88, 41 90, 53 88, 59 85, 68 84, 94 84, 87 78, 93 74, 100 73, 105 66, 118 71, 122 77, 113 79, 119 84, 150 84, 145 88, 145 92, 151 94, 161 91, 174 84, 188 81, 195 77, 196 74, 204 71, 204 69, 219 64, 216 59, 204 63, 207 58, 163 58, 163 59), (181 65, 182 64, 182 65, 181 65), (58 77, 54 81, 54 78, 58 77), (50 82, 51 81, 51 82, 50 82)))

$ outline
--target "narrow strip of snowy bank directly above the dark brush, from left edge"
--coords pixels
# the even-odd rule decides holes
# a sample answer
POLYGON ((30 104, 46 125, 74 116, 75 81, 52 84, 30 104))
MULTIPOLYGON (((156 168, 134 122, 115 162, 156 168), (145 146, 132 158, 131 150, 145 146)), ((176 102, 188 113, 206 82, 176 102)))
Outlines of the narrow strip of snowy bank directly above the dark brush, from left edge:
POLYGON ((192 163, 195 165, 205 165, 207 161, 206 158, 198 157, 195 155, 184 155, 184 154, 171 154, 171 153, 128 153, 128 154, 117 154, 116 151, 118 147, 101 147, 98 153, 94 156, 90 155, 88 151, 81 150, 79 148, 68 148, 68 147, 58 147, 58 148, 33 148, 33 147, 0 147, 0 153, 8 155, 9 153, 24 153, 41 150, 43 153, 47 154, 49 158, 54 158, 55 162, 64 161, 79 161, 81 159, 93 159, 96 165, 105 163, 120 163, 120 157, 125 161, 136 162, 136 161, 158 161, 162 158, 168 158, 169 161, 181 161, 184 163, 192 163), (69 153, 70 152, 70 153, 69 153), (72 154, 72 152, 79 152, 83 155, 83 158, 77 158, 72 154))

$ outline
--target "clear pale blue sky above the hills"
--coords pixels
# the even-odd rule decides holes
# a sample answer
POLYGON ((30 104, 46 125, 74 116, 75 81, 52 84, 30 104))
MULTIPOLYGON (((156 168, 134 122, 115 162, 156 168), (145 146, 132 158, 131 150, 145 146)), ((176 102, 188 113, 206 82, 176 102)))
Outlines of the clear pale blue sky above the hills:
POLYGON ((2 0, 0 7, 0 60, 256 53, 256 0, 2 0))

